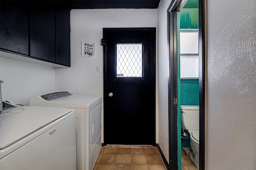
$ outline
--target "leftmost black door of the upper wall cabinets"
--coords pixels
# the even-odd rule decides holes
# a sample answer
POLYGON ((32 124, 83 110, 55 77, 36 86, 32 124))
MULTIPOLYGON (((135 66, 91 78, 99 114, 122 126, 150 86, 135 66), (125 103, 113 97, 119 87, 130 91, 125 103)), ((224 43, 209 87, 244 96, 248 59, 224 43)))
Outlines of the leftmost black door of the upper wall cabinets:
POLYGON ((0 1, 0 48, 28 55, 28 9, 23 1, 0 1))

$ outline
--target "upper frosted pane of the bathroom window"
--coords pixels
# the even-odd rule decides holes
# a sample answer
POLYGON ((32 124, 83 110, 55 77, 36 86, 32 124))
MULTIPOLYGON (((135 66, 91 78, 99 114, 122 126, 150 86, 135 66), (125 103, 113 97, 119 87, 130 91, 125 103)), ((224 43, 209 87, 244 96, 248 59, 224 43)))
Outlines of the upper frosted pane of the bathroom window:
POLYGON ((198 31, 180 31, 180 53, 198 54, 198 31))

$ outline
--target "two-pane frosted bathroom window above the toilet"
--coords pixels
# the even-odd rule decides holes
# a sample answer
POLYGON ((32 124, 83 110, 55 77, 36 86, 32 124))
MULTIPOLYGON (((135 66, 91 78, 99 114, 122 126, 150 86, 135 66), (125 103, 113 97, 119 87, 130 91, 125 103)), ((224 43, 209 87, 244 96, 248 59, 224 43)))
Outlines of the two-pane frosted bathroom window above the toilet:
POLYGON ((180 78, 199 77, 198 29, 180 30, 180 78))

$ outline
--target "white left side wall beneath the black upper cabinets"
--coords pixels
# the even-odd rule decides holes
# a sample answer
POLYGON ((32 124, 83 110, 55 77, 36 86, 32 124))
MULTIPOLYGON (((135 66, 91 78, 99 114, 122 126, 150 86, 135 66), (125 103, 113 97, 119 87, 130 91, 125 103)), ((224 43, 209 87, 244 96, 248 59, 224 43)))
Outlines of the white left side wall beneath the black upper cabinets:
POLYGON ((54 68, 0 57, 2 99, 29 105, 31 97, 54 91, 54 68))

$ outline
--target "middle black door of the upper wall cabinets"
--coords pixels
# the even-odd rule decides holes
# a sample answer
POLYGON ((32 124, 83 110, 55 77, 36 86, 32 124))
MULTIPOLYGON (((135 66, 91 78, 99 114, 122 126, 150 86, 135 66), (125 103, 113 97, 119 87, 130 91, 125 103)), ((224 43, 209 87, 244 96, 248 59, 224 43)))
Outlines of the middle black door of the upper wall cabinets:
POLYGON ((32 1, 30 56, 55 63, 55 9, 51 1, 32 1))

